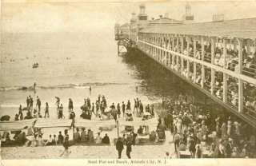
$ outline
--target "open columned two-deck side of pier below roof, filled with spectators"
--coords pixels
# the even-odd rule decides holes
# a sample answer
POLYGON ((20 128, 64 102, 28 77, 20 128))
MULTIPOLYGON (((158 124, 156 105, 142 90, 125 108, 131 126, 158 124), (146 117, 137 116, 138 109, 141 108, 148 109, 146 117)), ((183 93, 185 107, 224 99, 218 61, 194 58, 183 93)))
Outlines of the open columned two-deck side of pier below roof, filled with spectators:
POLYGON ((138 49, 256 125, 256 53, 250 43, 241 38, 138 34, 138 49))

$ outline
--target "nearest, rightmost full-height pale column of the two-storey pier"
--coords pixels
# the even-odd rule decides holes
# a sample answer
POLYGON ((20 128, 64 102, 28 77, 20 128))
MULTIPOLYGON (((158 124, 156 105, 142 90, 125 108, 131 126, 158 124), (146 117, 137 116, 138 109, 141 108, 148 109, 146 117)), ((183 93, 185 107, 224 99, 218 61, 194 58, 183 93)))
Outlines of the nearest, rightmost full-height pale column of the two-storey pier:
MULTIPOLYGON (((242 74, 242 40, 238 40, 238 73, 242 74)), ((243 81, 238 78, 238 113, 243 112, 243 81)))

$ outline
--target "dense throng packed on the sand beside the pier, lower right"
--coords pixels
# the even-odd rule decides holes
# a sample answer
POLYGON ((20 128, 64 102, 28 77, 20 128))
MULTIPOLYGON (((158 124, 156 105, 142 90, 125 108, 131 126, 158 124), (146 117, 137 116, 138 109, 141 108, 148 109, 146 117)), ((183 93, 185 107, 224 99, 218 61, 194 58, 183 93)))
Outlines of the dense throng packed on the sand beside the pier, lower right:
POLYGON ((177 99, 164 100, 165 123, 173 134, 177 156, 186 151, 190 157, 254 157, 255 133, 250 126, 234 117, 214 116, 202 106, 177 99))

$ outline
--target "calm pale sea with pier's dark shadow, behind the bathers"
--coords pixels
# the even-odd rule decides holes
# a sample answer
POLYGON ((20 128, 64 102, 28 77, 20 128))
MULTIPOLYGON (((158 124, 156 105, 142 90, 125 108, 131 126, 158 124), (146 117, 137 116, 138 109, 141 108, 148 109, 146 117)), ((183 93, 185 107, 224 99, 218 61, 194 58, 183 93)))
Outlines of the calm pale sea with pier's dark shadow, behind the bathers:
POLYGON ((69 98, 80 114, 84 98, 95 101, 99 94, 109 104, 127 100, 133 104, 139 97, 146 105, 162 97, 194 93, 190 85, 148 58, 133 53, 118 56, 114 34, 2 34, 1 45, 0 116, 13 118, 29 95, 41 99, 42 110, 48 102, 50 117, 55 118, 55 97, 61 98, 64 114, 69 98), (33 69, 35 62, 39 67, 33 69))

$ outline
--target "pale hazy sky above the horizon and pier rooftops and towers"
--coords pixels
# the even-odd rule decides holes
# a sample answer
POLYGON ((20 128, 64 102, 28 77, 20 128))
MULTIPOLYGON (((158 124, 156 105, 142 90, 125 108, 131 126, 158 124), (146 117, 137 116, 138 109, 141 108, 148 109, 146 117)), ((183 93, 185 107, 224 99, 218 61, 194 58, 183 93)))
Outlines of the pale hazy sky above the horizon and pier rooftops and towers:
POLYGON ((149 18, 168 13, 181 19, 185 5, 191 6, 195 22, 209 22, 213 14, 225 19, 256 18, 256 1, 178 1, 178 0, 2 0, 2 32, 106 32, 116 22, 130 21, 138 6, 146 5, 149 18))

